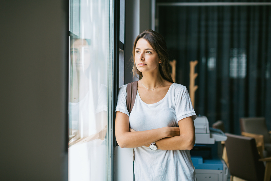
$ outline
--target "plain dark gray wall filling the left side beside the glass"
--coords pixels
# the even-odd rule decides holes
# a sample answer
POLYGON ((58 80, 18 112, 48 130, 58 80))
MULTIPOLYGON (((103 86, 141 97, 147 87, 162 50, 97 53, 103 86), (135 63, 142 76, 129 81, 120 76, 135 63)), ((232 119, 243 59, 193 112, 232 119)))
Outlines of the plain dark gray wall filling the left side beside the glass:
POLYGON ((67 180, 64 2, 1 1, 0 180, 67 180))

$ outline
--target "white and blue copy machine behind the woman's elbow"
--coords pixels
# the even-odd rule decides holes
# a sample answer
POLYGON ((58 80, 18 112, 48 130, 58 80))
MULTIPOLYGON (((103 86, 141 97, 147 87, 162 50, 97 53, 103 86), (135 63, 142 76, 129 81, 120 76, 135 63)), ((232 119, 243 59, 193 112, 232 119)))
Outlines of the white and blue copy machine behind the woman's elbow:
POLYGON ((196 143, 190 154, 197 181, 227 181, 228 167, 221 157, 220 142, 226 141, 227 136, 219 129, 209 128, 206 116, 198 116, 194 124, 196 143))

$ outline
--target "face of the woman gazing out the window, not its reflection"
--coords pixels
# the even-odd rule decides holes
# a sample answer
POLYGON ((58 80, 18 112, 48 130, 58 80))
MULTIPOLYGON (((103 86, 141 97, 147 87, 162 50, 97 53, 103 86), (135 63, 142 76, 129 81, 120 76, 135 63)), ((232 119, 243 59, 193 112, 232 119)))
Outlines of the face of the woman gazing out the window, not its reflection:
POLYGON ((161 63, 158 54, 144 39, 139 39, 135 45, 135 64, 140 72, 159 71, 161 63))

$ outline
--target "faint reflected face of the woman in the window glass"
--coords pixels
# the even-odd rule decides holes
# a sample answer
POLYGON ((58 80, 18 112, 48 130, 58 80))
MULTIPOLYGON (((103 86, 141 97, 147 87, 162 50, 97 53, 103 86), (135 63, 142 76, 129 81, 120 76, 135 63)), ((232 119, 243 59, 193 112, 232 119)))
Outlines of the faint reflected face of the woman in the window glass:
POLYGON ((85 71, 90 64, 89 45, 85 39, 75 40, 70 47, 72 66, 85 71))

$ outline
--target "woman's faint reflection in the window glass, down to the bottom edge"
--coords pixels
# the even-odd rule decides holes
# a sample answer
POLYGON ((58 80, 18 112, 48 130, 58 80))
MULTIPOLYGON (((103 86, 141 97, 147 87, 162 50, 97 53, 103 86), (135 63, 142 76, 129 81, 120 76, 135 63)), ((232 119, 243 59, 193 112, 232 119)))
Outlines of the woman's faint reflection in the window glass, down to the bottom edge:
POLYGON ((106 180, 107 87, 99 75, 107 72, 90 40, 70 45, 69 180, 106 180))

